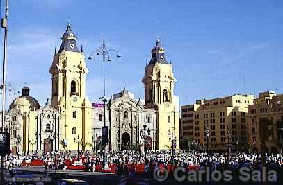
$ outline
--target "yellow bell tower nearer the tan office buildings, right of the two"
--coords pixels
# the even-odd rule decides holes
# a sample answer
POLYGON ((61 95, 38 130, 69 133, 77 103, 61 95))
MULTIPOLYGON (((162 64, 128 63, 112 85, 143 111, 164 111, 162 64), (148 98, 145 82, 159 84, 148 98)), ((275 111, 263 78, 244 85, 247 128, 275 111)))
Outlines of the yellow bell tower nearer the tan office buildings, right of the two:
POLYGON ((152 58, 145 66, 145 108, 156 109, 157 147, 166 149, 171 146, 169 136, 176 136, 176 148, 179 148, 179 100, 174 96, 176 79, 171 62, 165 58, 165 50, 156 40, 152 49, 152 58))

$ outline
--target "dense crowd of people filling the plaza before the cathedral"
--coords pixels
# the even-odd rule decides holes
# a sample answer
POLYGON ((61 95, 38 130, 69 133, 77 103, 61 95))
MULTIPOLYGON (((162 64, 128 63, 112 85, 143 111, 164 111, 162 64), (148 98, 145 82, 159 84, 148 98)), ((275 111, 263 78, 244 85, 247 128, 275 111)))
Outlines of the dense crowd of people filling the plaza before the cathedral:
MULTIPOLYGON (((232 155, 227 153, 200 152, 198 150, 147 150, 146 157, 144 152, 134 150, 108 151, 108 164, 117 164, 118 173, 133 172, 134 164, 145 164, 145 170, 156 168, 159 164, 184 166, 197 166, 202 169, 207 166, 211 168, 229 168, 236 169, 241 166, 249 166, 250 168, 261 167, 261 155, 248 154, 245 152, 234 152, 232 155), (126 168, 126 169, 125 169, 126 168), (131 168, 131 169, 130 169, 131 168)), ((44 162, 45 170, 65 169, 66 166, 86 166, 88 171, 95 171, 97 166, 103 164, 104 152, 97 151, 83 152, 79 155, 72 152, 47 152, 46 155, 9 155, 6 157, 6 168, 31 166, 31 162, 35 159, 44 162)), ((280 154, 267 155, 266 166, 270 168, 282 168, 282 157, 280 154)))

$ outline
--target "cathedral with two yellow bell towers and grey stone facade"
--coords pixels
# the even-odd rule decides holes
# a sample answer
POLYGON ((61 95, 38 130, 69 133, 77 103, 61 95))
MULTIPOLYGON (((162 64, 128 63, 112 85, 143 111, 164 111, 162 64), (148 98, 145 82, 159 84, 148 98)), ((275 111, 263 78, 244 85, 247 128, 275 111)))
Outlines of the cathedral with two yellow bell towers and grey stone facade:
MULTIPOLYGON (((49 69, 51 99, 43 107, 30 95, 27 85, 6 112, 5 130, 10 132, 13 154, 47 153, 57 150, 100 150, 104 115, 111 150, 146 145, 148 150, 179 148, 179 99, 174 95, 172 64, 165 58, 159 39, 145 66, 145 100, 135 99, 124 87, 104 104, 91 103, 86 95, 83 49, 76 45, 71 25, 61 37, 49 69), (146 132, 146 133, 145 133, 146 132)), ((142 147, 143 148, 143 147, 142 147)))

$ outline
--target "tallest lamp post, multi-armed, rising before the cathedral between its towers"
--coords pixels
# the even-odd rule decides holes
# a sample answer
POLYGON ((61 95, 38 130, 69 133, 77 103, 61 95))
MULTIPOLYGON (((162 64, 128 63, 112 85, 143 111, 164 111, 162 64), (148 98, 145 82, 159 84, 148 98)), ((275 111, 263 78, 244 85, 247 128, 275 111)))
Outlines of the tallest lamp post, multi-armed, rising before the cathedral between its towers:
MULTIPOLYGON (((105 59, 107 57, 107 61, 111 61, 110 59, 110 54, 111 52, 115 52, 117 55, 117 58, 120 58, 121 55, 118 53, 118 51, 116 51, 115 49, 108 49, 106 47, 106 44, 105 44, 105 37, 103 35, 103 43, 102 43, 102 46, 99 46, 98 49, 96 49, 95 51, 92 51, 92 53, 90 53, 89 57, 88 57, 88 60, 92 60, 92 55, 94 53, 96 53, 98 56, 102 55, 102 62, 103 62, 103 96, 99 99, 101 99, 104 103, 104 127, 106 126, 106 98, 105 98, 105 59)), ((107 156, 106 156, 106 145, 107 143, 105 143, 105 146, 104 146, 104 157, 103 157, 103 164, 104 164, 104 169, 105 168, 108 168, 108 161, 107 161, 107 156)))

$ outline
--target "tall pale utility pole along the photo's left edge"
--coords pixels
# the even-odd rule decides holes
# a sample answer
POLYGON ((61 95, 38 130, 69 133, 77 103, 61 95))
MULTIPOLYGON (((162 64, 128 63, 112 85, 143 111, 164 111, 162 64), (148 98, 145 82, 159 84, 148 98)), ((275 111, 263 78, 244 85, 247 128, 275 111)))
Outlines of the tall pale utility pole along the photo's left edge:
MULTIPOLYGON (((6 63, 7 63, 7 20, 8 20, 8 0, 6 0, 5 17, 1 19, 1 27, 4 28, 4 58, 3 58, 3 81, 2 90, 2 132, 5 122, 5 101, 6 101, 6 63)), ((4 156, 1 156, 1 184, 4 184, 4 156)))

